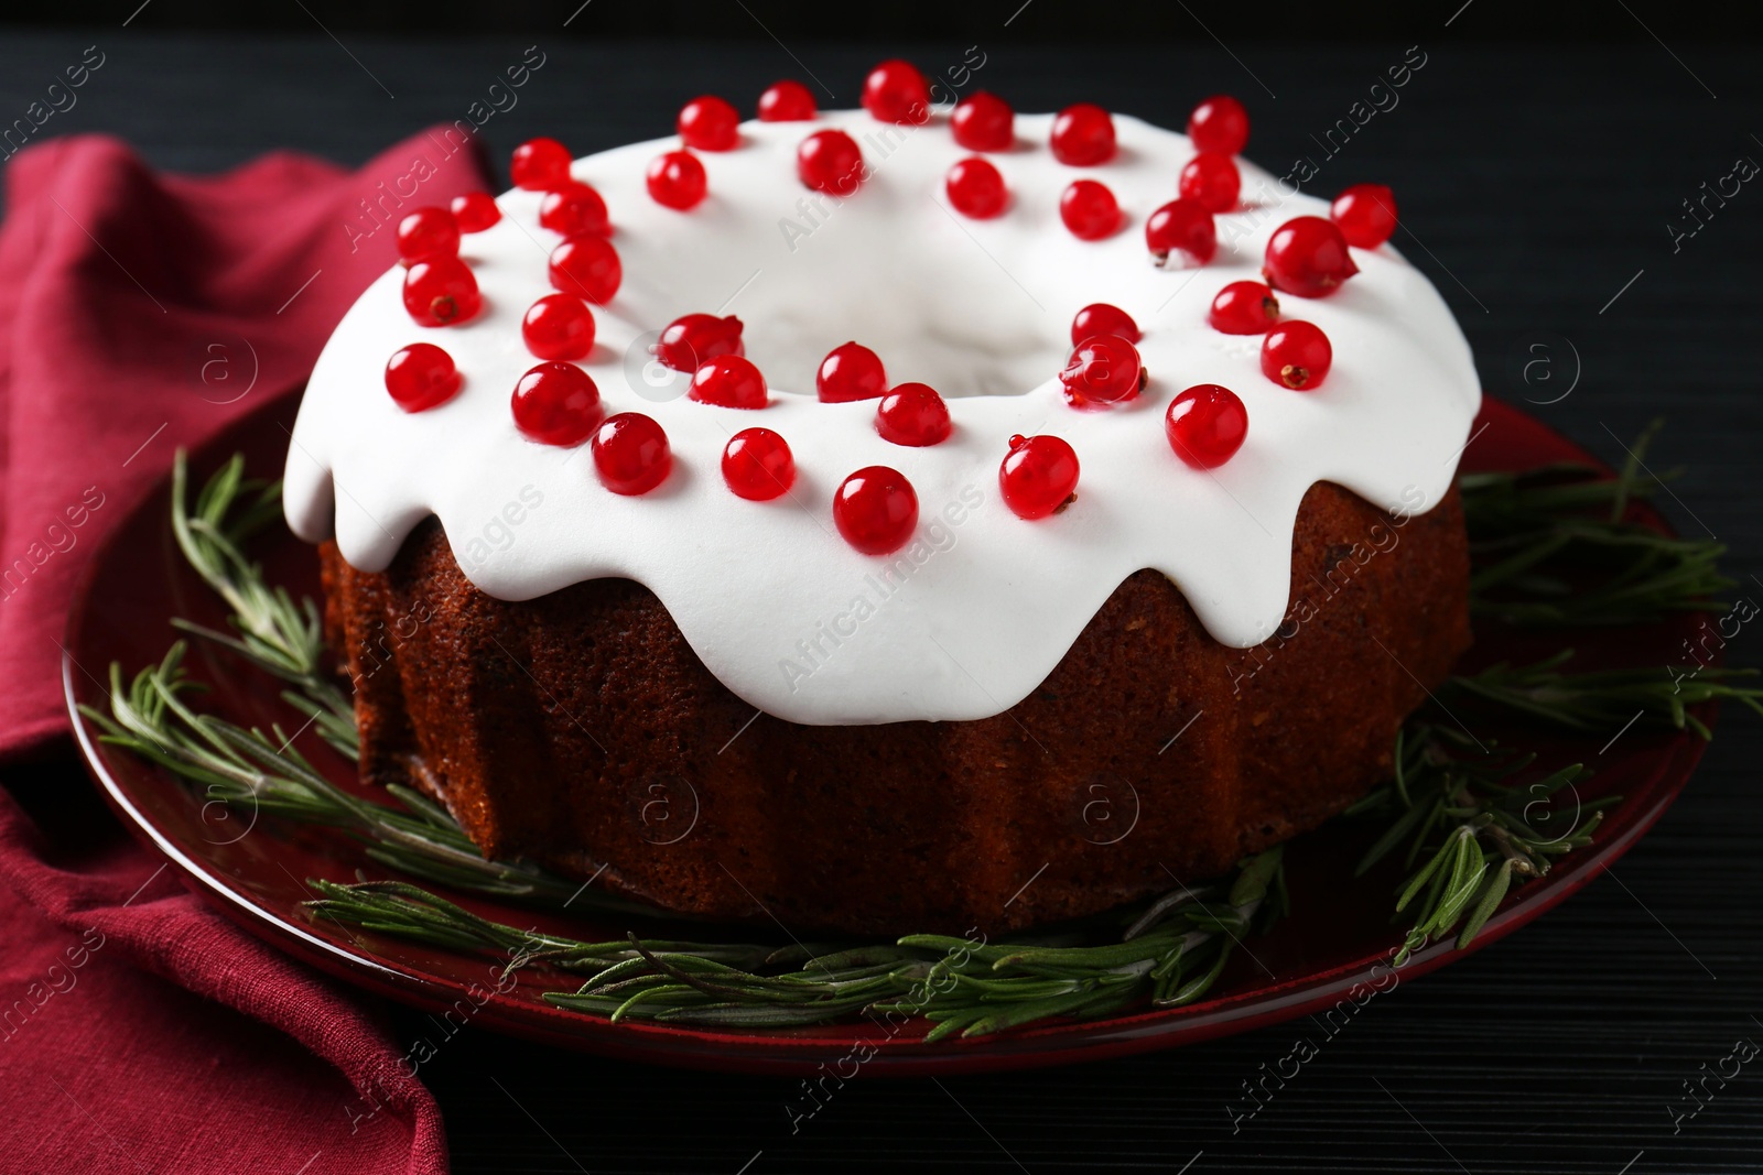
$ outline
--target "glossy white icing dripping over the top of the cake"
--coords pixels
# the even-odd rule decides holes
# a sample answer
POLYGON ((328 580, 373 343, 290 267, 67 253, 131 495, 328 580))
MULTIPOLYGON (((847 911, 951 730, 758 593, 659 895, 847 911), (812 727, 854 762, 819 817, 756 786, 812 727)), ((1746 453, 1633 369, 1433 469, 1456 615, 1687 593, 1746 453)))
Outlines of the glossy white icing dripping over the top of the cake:
POLYGON ((1328 215, 1324 201, 1282 197, 1245 162, 1250 206, 1218 217, 1213 262, 1158 270, 1144 218, 1174 197, 1194 148, 1135 118, 1114 123, 1118 159, 1074 169, 1045 148, 1051 116, 1019 115, 1015 150, 989 157, 1012 192, 996 220, 947 206, 943 174, 968 151, 941 113, 922 129, 860 111, 749 122, 739 150, 700 153, 710 194, 688 213, 643 188, 647 162, 673 139, 578 160, 575 176, 606 197, 624 262, 617 298, 594 308, 599 342, 582 366, 608 412, 654 416, 673 447, 673 474, 642 497, 606 491, 587 446, 515 430, 510 393, 536 363, 520 315, 550 292, 559 238, 538 227, 536 194, 510 192, 502 220, 462 248, 485 294, 476 321, 414 326, 391 270, 337 328, 294 426, 289 525, 309 541, 335 534, 353 565, 379 571, 435 514, 471 581, 510 601, 636 580, 725 685, 804 724, 1000 713, 1141 567, 1167 574, 1218 641, 1253 645, 1285 613, 1305 491, 1333 481, 1382 507, 1430 509, 1451 484, 1479 381, 1439 292, 1386 245, 1354 250, 1361 273, 1331 298, 1282 296, 1283 317, 1328 333, 1335 366, 1315 393, 1269 382, 1261 336, 1213 331, 1206 308, 1227 282, 1259 277, 1280 224, 1328 215), (795 146, 829 125, 857 137, 874 173, 852 199, 822 197, 811 211, 795 146), (1127 222, 1112 238, 1079 241, 1060 224, 1060 192, 1077 176, 1120 197, 1127 222), (1135 402, 1109 410, 1068 407, 1056 379, 1072 315, 1091 301, 1134 315, 1151 373, 1135 402), (763 410, 668 398, 645 372, 645 331, 725 303, 772 386, 763 410), (820 403, 815 368, 848 338, 882 354, 890 382, 952 396, 954 437, 899 447, 876 435, 876 402, 820 403), (418 340, 444 347, 465 384, 405 414, 383 372, 418 340), (1179 462, 1162 426, 1171 398, 1199 382, 1234 389, 1250 418, 1243 449, 1211 474, 1179 462), (728 437, 755 425, 783 433, 799 469, 792 493, 765 504, 730 493, 719 472, 728 437), (998 465, 1012 433, 1040 432, 1065 437, 1082 474, 1070 507, 1024 521, 1003 506, 998 465), (903 470, 919 493, 917 541, 890 558, 859 553, 832 525, 834 488, 864 465, 903 470))

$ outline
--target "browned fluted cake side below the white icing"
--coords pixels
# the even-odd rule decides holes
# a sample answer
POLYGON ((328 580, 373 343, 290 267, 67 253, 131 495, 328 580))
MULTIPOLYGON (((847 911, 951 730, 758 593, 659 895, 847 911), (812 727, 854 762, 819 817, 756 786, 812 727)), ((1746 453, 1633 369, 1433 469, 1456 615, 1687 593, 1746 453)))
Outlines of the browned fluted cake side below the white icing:
POLYGON ((887 726, 755 717, 628 580, 490 599, 434 520, 384 573, 333 544, 323 565, 363 775, 423 787, 487 854, 793 932, 996 934, 1225 872, 1387 772, 1470 639, 1456 491, 1391 518, 1317 484, 1292 546, 1253 650, 1139 571, 1005 713, 887 726))

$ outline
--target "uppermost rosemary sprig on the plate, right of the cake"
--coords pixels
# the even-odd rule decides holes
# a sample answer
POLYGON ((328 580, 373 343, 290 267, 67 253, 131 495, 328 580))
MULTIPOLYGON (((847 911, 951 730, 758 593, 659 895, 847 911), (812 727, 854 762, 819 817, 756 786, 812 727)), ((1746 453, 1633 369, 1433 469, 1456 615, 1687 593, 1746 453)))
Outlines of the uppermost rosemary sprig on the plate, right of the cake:
POLYGON ((1458 477, 1476 615, 1518 625, 1620 625, 1726 608, 1721 595, 1735 587, 1719 569, 1726 546, 1625 518, 1633 502, 1664 486, 1641 467, 1661 425, 1640 435, 1615 477, 1571 463, 1458 477))

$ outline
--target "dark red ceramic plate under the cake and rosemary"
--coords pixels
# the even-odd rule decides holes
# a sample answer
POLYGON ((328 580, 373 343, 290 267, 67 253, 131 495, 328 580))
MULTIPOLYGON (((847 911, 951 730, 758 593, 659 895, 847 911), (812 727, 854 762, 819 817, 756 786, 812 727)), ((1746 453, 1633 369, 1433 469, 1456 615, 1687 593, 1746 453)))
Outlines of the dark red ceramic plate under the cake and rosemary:
MULTIPOLYGON (((294 407, 291 398, 270 403, 217 437, 194 456, 194 476, 206 477, 234 451, 243 451, 249 469, 257 474, 280 472, 287 447, 284 430, 293 423, 294 407)), ((1557 460, 1592 458, 1523 412, 1488 402, 1463 454, 1463 467, 1530 469, 1557 460)), ((257 555, 272 581, 286 583, 296 594, 317 592, 312 548, 286 530, 261 539, 257 555)), ((157 662, 176 636, 169 625, 173 617, 212 627, 226 624, 220 602, 183 564, 171 537, 167 479, 134 509, 86 567, 67 634, 63 682, 69 706, 106 705, 99 682, 108 676, 113 661, 122 662, 125 673, 157 662)), ((1583 631, 1574 638, 1588 664, 1666 664, 1692 624, 1694 618, 1685 618, 1640 631, 1583 631)), ((1469 657, 1469 668, 1500 659, 1529 661, 1558 647, 1558 638, 1483 632, 1469 657)), ((289 722, 291 710, 277 698, 275 684, 227 654, 197 643, 190 669, 215 687, 208 703, 224 717, 243 726, 289 722)), ((501 960, 317 923, 305 914, 301 902, 312 897, 305 886, 309 877, 351 881, 358 870, 384 876, 349 837, 287 826, 270 817, 252 821, 227 816, 220 805, 205 803, 192 786, 100 745, 93 726, 78 708, 72 713, 86 763, 122 817, 169 856, 196 891, 212 898, 247 930, 314 967, 430 1011, 471 999, 467 990, 481 999, 492 987, 492 967, 501 960)), ((1701 717, 1712 722, 1712 708, 1701 717)), ((1606 814, 1590 849, 1564 858, 1546 879, 1523 884, 1507 898, 1476 941, 1477 950, 1546 913, 1608 868, 1659 819, 1701 756, 1701 740, 1692 735, 1640 726, 1599 754, 1599 747, 1617 731, 1564 740, 1536 728, 1502 731, 1497 722, 1483 717, 1476 724, 1481 738, 1497 736, 1507 745, 1539 749, 1560 763, 1596 765, 1597 775, 1583 789, 1585 798, 1624 796, 1620 807, 1606 814)), ((298 747, 338 784, 358 787, 354 766, 321 740, 301 736, 298 747)), ((1356 985, 1391 985, 1389 972, 1377 965, 1389 958, 1400 941, 1389 925, 1395 874, 1386 870, 1352 879, 1352 861, 1365 847, 1365 830, 1336 821, 1294 840, 1287 851, 1292 918, 1248 942, 1248 950, 1232 957, 1213 994, 1181 1009, 1053 1022, 978 1041, 936 1045, 913 1038, 913 1027, 924 1025, 883 1038, 867 1022, 723 1032, 638 1022, 610 1024, 598 1016, 559 1011, 541 1002, 539 992, 568 988, 569 979, 527 969, 518 972, 518 987, 490 995, 474 1020, 518 1036, 614 1057, 746 1073, 807 1073, 820 1062, 844 1057, 857 1041, 876 1048, 876 1055, 867 1060, 873 1071, 896 1075, 1015 1069, 1171 1048, 1329 1008, 1349 999, 1356 985)), ((624 937, 628 928, 645 930, 601 914, 559 918, 471 895, 451 897, 497 921, 522 927, 538 923, 584 939, 624 937)), ((668 937, 679 934, 679 923, 672 923, 668 937)), ((1396 972, 1398 981, 1409 981, 1462 955, 1447 942, 1433 944, 1396 972)), ((1359 997, 1365 997, 1365 988, 1359 997)))

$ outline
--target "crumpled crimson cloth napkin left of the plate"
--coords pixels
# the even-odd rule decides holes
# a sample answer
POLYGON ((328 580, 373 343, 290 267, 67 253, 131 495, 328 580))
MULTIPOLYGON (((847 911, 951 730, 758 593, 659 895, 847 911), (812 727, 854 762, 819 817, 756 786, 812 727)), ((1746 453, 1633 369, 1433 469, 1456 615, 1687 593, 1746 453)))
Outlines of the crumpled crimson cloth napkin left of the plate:
POLYGON ((444 1171, 376 1004, 234 928, 93 803, 58 643, 81 562, 173 451, 303 381, 395 261, 397 201, 481 188, 481 160, 420 136, 353 174, 279 151, 196 178, 69 137, 5 180, 0 1170, 444 1171))

